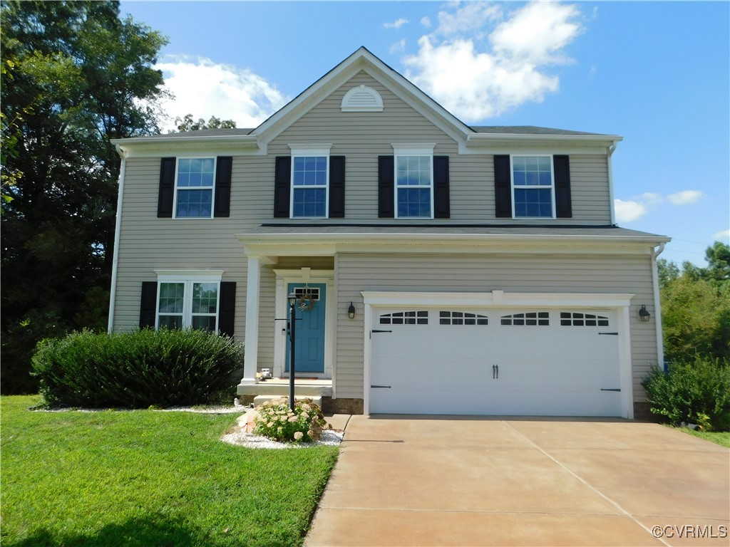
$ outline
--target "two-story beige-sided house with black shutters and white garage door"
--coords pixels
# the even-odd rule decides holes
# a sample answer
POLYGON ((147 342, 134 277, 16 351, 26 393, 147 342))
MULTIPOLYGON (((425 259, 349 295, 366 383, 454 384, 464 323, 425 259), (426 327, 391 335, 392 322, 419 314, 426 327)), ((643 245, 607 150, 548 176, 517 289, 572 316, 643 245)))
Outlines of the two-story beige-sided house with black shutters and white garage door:
POLYGON ((645 415, 669 238, 615 225, 618 141, 470 127, 360 48, 255 129, 114 141, 110 330, 234 335, 263 394, 294 292, 333 411, 645 415))

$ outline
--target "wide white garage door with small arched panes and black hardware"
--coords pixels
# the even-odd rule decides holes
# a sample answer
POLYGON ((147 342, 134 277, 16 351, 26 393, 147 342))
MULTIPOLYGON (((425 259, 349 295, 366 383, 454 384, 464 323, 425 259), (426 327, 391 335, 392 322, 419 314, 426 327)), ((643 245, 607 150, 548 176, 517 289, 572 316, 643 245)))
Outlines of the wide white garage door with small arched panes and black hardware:
POLYGON ((374 309, 370 412, 621 416, 614 311, 374 309))

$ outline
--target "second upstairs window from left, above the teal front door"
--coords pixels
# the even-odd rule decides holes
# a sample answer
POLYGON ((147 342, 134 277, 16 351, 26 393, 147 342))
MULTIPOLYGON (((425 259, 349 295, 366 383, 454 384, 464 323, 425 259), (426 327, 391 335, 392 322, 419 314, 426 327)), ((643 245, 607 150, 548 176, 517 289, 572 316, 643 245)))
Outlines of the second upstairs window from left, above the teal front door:
POLYGON ((291 218, 327 218, 328 155, 293 156, 291 218))

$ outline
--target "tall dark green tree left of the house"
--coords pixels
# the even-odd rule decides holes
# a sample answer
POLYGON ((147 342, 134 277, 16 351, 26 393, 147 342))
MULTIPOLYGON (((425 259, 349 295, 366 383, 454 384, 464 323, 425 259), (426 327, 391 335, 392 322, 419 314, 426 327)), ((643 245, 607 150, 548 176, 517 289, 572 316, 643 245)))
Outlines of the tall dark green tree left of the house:
POLYGON ((4 1, 0 28, 0 386, 24 392, 39 338, 104 327, 120 166, 110 139, 159 132, 153 65, 166 39, 110 0, 4 1))

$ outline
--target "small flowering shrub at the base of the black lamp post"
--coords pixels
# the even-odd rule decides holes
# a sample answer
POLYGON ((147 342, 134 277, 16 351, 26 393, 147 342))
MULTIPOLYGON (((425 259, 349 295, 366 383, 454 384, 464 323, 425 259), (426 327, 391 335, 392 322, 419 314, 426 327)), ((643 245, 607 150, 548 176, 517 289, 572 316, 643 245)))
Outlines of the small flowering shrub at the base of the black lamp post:
POLYGON ((322 409, 311 399, 297 400, 294 411, 289 408, 289 397, 270 400, 257 409, 256 435, 264 435, 274 441, 310 443, 318 441, 322 430, 329 429, 322 409))

